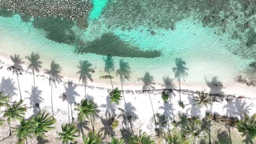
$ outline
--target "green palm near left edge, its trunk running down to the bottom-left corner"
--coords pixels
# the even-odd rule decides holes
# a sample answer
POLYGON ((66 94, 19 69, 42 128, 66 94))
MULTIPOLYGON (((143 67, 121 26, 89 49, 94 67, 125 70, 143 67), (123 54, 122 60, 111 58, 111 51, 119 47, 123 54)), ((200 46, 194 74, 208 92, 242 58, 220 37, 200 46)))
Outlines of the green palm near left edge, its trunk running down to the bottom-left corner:
POLYGON ((13 105, 5 104, 6 109, 4 110, 3 117, 7 118, 9 125, 9 135, 11 135, 10 122, 13 119, 21 119, 25 115, 26 107, 22 105, 23 101, 14 101, 13 105))

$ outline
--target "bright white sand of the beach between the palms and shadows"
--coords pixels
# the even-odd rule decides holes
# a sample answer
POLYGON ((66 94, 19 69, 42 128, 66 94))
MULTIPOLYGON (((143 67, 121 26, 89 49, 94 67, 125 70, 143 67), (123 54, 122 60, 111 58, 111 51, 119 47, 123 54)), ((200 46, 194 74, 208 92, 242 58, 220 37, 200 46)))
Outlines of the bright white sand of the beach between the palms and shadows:
MULTIPOLYGON (((4 80, 7 80, 7 79, 15 82, 14 86, 16 87, 16 90, 14 92, 16 93, 16 95, 13 95, 11 99, 13 101, 14 100, 19 101, 20 95, 19 95, 16 75, 13 75, 12 71, 7 70, 8 65, 11 65, 12 63, 7 56, 5 57, 0 56, 0 60, 1 60, 0 67, 3 66, 3 68, 0 69, 0 76, 2 79, 2 81, 0 81, 0 86, 4 85, 3 82, 4 80)), ((26 69, 26 64, 24 64, 23 66, 24 66, 24 69, 26 69)), ((40 70, 39 75, 44 75, 43 69, 40 70)), ((169 75, 173 75, 173 74, 169 74, 169 75)), ((50 110, 51 109, 50 86, 49 86, 49 80, 46 79, 46 77, 48 76, 47 75, 45 75, 45 77, 36 76, 35 81, 36 81, 36 87, 38 87, 38 90, 42 91, 42 94, 40 95, 40 97, 44 99, 43 103, 40 104, 40 109, 50 112, 51 111, 50 110)), ((208 77, 208 81, 211 81, 211 79, 212 77, 208 77)), ((68 81, 68 80, 72 80, 74 83, 79 83, 78 78, 63 76, 63 81, 68 81)), ((26 74, 24 72, 22 73, 22 75, 19 76, 19 82, 20 82, 22 99, 25 99, 24 103, 30 106, 30 100, 27 99, 30 97, 30 94, 28 94, 25 91, 28 91, 31 93, 31 89, 33 86, 33 76, 31 74, 28 74, 28 73, 26 74)), ((173 82, 178 88, 177 80, 173 80, 173 82)), ((140 85, 139 83, 137 83, 136 85, 124 85, 125 90, 133 91, 133 93, 131 92, 124 93, 124 96, 126 99, 126 103, 131 103, 131 105, 135 107, 136 114, 138 115, 138 120, 134 123, 134 130, 136 131, 136 133, 138 133, 138 131, 142 129, 143 131, 146 131, 149 134, 154 134, 153 112, 152 112, 152 107, 150 105, 148 94, 135 92, 135 90, 141 90, 142 85, 143 85, 142 82, 140 83, 140 85)), ((251 105, 248 109, 249 114, 252 115, 253 113, 256 113, 256 96, 255 96, 256 88, 255 87, 247 87, 246 85, 242 85, 236 82, 224 83, 223 85, 225 88, 220 90, 224 94, 234 95, 235 97, 242 96, 245 98, 242 98, 241 100, 234 100, 234 101, 228 101, 228 102, 224 100, 222 103, 214 102, 212 106, 212 112, 217 112, 220 115, 237 116, 238 118, 240 118, 240 116, 244 112, 247 112, 247 110, 245 111, 243 108, 246 107, 247 105, 251 105), (237 110, 230 111, 229 109, 230 107, 236 107, 237 110)), ((88 94, 88 97, 93 98, 97 103, 97 105, 99 106, 101 111, 99 113, 100 117, 105 117, 106 108, 104 108, 102 105, 107 104, 107 101, 106 101, 108 98, 107 89, 111 88, 110 81, 109 83, 107 83, 105 80, 104 82, 101 82, 101 81, 89 82, 89 86, 94 86, 95 88, 93 87, 87 88, 86 93, 88 94)), ((182 82, 181 86, 182 86, 182 89, 189 89, 192 91, 202 91, 203 89, 206 89, 206 92, 210 92, 210 87, 208 87, 206 84, 205 85, 191 85, 191 84, 188 85, 186 84, 186 82, 182 82)), ((55 115, 56 115, 57 123, 59 124, 58 127, 61 127, 60 124, 62 123, 68 123, 67 102, 62 101, 61 98, 59 98, 63 92, 66 92, 65 87, 68 87, 68 85, 65 85, 63 82, 60 82, 53 89, 54 111, 56 113, 55 115)), ((114 83, 114 87, 120 87, 120 83, 114 83)), ((161 83, 156 83, 155 88, 161 89, 162 88, 161 83)), ((0 89, 0 90, 4 90, 4 89, 0 89)), ((78 95, 75 97, 75 101, 77 103, 79 103, 81 99, 85 98, 83 86, 75 87, 74 91, 78 93, 78 95)), ((214 91, 214 87, 213 87, 213 91, 214 91)), ((182 109, 181 107, 179 107, 177 102, 179 99, 177 91, 174 91, 174 94, 176 94, 176 97, 171 98, 171 103, 172 103, 173 112, 175 116, 178 115, 178 112, 185 112, 185 113, 188 113, 189 115, 196 115, 196 116, 205 115, 205 111, 207 111, 206 107, 203 107, 200 110, 197 109, 196 106, 191 106, 191 105, 186 106, 185 109, 182 109)), ((184 104, 191 102, 191 97, 187 93, 182 93, 181 97, 182 97, 182 100, 184 101, 184 104)), ((153 102, 155 113, 171 112, 170 103, 164 104, 161 99, 161 94, 159 92, 153 92, 152 102, 153 102)), ((72 109, 74 109, 74 107, 75 106, 73 106, 72 109)), ((124 109, 124 100, 122 100, 121 103, 117 105, 117 107, 124 109)), ((115 113, 119 115, 120 112, 118 111, 118 109, 115 109, 115 110, 116 110, 115 113)), ((73 113, 74 113, 74 117, 76 117, 75 116, 76 112, 74 110, 73 110, 73 113)), ((26 117, 30 117, 32 114, 33 114, 33 110, 28 110, 26 113, 26 117)), ((13 127, 14 126, 15 125, 13 125, 13 127)), ((97 119, 96 130, 98 130, 100 127, 101 127, 100 119, 97 119)), ((116 131, 119 131, 121 127, 122 125, 120 123, 116 131)), ((57 129, 60 129, 60 128, 57 128, 57 129)), ((1 138, 3 138, 4 136, 7 136, 9 133, 8 129, 2 129, 2 130, 5 130, 6 133, 5 135, 2 135, 1 138)), ((48 135, 50 134, 51 133, 49 133, 48 135)))

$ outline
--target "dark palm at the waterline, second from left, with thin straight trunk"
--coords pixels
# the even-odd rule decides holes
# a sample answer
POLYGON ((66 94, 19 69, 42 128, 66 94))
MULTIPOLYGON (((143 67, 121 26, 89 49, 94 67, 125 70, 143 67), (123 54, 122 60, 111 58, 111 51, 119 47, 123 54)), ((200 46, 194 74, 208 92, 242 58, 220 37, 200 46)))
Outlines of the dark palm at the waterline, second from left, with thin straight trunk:
MULTIPOLYGON (((28 69, 32 70, 33 78, 34 78, 34 71, 37 71, 37 73, 39 73, 39 68, 42 67, 41 66, 42 62, 39 61, 40 56, 38 55, 38 53, 32 52, 30 56, 26 56, 25 58, 28 61, 30 61, 30 65, 28 65, 27 70, 28 69)), ((34 87, 36 87, 35 84, 34 84, 34 87)))

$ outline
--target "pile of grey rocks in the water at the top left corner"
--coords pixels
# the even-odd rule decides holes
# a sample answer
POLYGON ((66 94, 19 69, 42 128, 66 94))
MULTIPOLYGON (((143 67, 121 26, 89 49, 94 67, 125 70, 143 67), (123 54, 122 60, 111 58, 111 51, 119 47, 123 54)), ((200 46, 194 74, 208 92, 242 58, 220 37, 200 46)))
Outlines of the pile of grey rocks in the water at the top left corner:
POLYGON ((6 9, 28 17, 63 17, 79 19, 88 17, 90 0, 2 0, 0 9, 6 9))

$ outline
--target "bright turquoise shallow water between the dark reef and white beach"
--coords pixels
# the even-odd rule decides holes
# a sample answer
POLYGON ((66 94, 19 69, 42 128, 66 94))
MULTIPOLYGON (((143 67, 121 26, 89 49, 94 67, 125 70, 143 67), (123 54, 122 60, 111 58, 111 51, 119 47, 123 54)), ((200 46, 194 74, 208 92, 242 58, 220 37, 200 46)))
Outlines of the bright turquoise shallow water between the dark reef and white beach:
MULTIPOLYGON (((78 62, 88 60, 96 68, 92 77, 94 81, 108 82, 99 78, 107 75, 103 71, 102 58, 105 56, 99 53, 104 51, 105 48, 102 46, 104 43, 112 42, 112 39, 102 40, 102 35, 108 34, 121 41, 120 45, 115 45, 113 41, 113 50, 110 49, 112 45, 107 48, 113 53, 118 53, 118 56, 113 57, 116 70, 119 68, 120 59, 129 62, 131 79, 126 82, 129 85, 142 85, 138 78, 143 77, 146 71, 154 76, 156 83, 163 83, 162 77, 167 75, 175 79, 172 71, 175 67, 175 58, 182 58, 187 63, 186 67, 189 70, 184 83, 204 84, 205 77, 211 80, 214 76, 222 82, 233 83, 234 78, 243 74, 248 64, 253 61, 252 58, 235 55, 228 49, 228 46, 238 49, 237 39, 230 39, 231 35, 228 33, 215 34, 217 28, 203 26, 202 22, 194 19, 193 16, 178 21, 175 29, 144 25, 131 26, 129 29, 122 26, 109 27, 108 20, 101 15, 102 10, 107 10, 104 9, 107 0, 93 1, 93 3, 94 9, 88 19, 88 28, 82 30, 74 25, 71 30, 75 37, 84 41, 85 45, 91 44, 91 41, 100 43, 97 47, 91 44, 92 49, 98 53, 90 53, 90 51, 83 54, 75 53, 77 45, 61 44, 46 38, 48 32, 34 27, 33 20, 22 21, 18 14, 13 17, 0 16, 0 53, 3 55, 19 53, 25 57, 31 52, 37 52, 41 56, 43 68, 49 68, 50 62, 55 60, 62 67, 62 75, 71 77, 78 77, 76 74, 78 62), (121 56, 120 53, 124 51, 128 51, 129 56, 121 56), (158 51, 160 56, 147 57, 148 51, 158 51), (135 55, 136 53, 142 57, 135 55), (132 57, 134 55, 136 57, 132 57)), ((114 83, 119 84, 115 72, 113 75, 114 83)))

